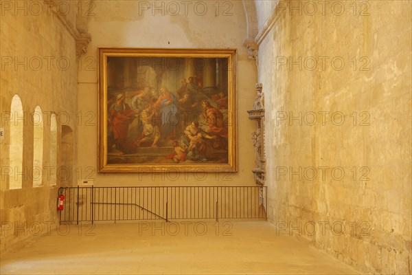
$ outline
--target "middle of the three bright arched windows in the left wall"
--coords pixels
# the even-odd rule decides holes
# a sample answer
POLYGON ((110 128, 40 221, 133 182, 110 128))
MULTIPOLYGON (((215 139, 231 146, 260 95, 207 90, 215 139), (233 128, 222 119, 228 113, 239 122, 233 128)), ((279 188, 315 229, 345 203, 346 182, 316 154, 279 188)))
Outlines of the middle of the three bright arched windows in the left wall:
POLYGON ((42 185, 43 180, 43 113, 36 107, 33 113, 33 187, 42 185))

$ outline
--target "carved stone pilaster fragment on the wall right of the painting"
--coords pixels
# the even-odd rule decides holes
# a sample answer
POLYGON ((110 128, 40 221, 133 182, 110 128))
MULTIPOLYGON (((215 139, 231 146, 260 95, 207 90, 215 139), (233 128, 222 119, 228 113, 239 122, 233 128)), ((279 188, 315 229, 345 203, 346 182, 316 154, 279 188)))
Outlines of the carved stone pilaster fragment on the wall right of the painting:
POLYGON ((255 147, 255 168, 252 170, 255 183, 259 186, 264 185, 266 157, 264 155, 264 94, 262 93, 262 84, 258 83, 256 87, 256 97, 253 102, 253 110, 249 113, 249 120, 257 122, 257 129, 252 133, 253 146, 255 147))

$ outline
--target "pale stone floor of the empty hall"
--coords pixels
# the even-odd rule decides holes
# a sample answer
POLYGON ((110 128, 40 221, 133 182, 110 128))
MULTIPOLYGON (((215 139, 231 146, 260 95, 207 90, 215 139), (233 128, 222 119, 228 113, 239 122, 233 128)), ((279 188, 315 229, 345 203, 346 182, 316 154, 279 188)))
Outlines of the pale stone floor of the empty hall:
POLYGON ((358 274, 266 221, 68 228, 1 252, 0 274, 358 274))

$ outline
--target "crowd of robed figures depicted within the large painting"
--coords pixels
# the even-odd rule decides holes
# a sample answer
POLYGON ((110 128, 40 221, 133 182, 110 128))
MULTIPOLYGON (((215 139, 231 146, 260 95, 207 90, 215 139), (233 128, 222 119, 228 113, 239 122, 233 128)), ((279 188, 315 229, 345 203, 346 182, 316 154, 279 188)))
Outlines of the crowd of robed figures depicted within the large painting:
POLYGON ((220 111, 227 109, 227 96, 218 93, 207 98, 194 78, 181 83, 176 94, 165 87, 159 92, 144 87, 130 104, 124 94, 108 100, 108 146, 120 155, 135 153, 139 147, 172 146, 174 151, 165 158, 175 163, 205 162, 214 151, 227 150, 227 118, 220 111), (130 140, 129 126, 135 120, 137 133, 130 140))

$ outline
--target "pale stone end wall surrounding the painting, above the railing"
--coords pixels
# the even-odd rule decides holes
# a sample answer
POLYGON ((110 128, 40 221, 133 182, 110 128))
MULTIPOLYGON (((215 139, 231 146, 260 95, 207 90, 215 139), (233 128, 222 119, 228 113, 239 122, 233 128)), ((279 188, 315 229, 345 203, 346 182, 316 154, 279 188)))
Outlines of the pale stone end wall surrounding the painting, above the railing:
MULTIPOLYGON (((241 1, 96 1, 89 17, 93 37, 80 60, 78 111, 89 115, 78 127, 78 169, 95 186, 253 186, 254 161, 247 118, 255 98, 256 65, 242 45, 247 36, 241 1), (155 3, 155 5, 154 5, 155 3), (238 87, 238 173, 162 174, 97 173, 98 47, 236 48, 238 87), (89 174, 91 173, 91 174, 89 174)), ((82 178, 80 178, 82 179, 82 178)))

